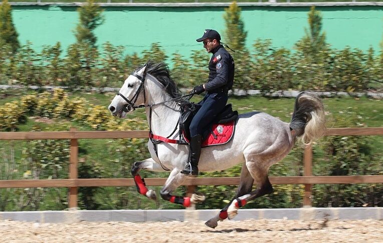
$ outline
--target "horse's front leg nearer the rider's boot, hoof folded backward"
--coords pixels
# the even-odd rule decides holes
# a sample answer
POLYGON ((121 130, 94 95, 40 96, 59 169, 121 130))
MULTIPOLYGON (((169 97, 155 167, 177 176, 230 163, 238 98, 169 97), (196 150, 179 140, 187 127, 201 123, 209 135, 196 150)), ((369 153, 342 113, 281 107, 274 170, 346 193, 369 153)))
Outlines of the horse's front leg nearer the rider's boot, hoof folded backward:
POLYGON ((170 201, 172 203, 181 204, 185 207, 189 207, 194 203, 205 200, 204 196, 193 194, 192 197, 189 196, 175 196, 171 193, 181 185, 181 183, 186 179, 187 176, 180 173, 179 168, 174 168, 168 179, 166 180, 165 185, 162 187, 160 194, 162 199, 170 201))

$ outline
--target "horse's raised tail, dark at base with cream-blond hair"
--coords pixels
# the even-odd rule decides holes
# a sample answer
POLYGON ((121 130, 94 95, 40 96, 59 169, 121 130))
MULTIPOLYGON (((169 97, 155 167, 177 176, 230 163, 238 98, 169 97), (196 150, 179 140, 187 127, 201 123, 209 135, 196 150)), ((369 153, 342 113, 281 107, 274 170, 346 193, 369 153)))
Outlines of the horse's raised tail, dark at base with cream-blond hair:
POLYGON ((321 137, 325 131, 324 108, 321 98, 310 91, 302 91, 295 99, 290 127, 295 137, 304 144, 310 144, 321 137))

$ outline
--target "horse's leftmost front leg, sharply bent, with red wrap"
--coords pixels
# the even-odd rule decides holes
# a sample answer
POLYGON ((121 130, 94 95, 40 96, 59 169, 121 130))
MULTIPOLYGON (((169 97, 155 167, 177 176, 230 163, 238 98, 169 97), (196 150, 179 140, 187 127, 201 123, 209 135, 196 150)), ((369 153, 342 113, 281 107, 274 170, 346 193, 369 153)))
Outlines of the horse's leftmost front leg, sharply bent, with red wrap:
POLYGON ((164 168, 161 167, 153 158, 147 158, 143 161, 137 161, 133 163, 131 172, 136 183, 137 191, 153 200, 157 199, 156 192, 153 189, 148 189, 145 184, 144 178, 138 174, 141 169, 151 170, 151 171, 164 171, 164 168))

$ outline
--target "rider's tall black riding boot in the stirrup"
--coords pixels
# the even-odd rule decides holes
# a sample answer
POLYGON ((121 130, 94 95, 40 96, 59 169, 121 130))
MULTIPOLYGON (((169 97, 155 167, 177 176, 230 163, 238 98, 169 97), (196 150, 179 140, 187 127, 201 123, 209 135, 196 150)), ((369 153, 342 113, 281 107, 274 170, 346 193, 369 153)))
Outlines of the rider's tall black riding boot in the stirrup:
POLYGON ((181 173, 186 175, 198 174, 198 161, 201 154, 201 138, 200 134, 193 136, 190 139, 189 145, 189 161, 185 166, 185 169, 181 170, 181 173))

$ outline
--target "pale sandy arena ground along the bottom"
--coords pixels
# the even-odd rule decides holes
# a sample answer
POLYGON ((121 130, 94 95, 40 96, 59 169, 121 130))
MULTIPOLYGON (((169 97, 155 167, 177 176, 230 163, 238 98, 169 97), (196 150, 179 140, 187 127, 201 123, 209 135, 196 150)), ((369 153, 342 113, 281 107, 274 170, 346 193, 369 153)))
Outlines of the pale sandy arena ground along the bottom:
POLYGON ((0 221, 0 242, 383 242, 383 220, 34 223, 0 221))

